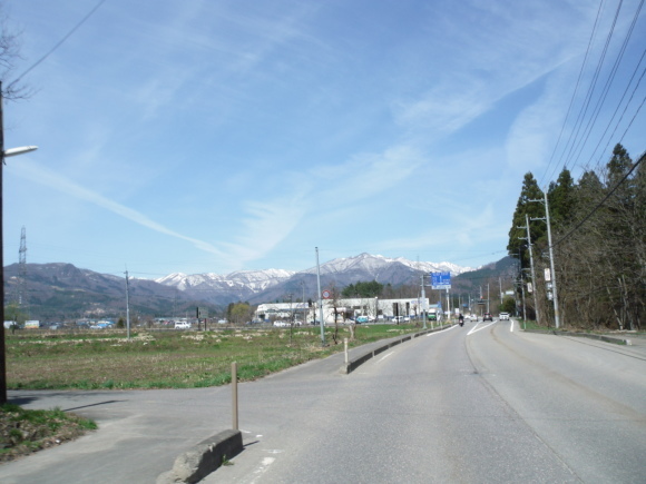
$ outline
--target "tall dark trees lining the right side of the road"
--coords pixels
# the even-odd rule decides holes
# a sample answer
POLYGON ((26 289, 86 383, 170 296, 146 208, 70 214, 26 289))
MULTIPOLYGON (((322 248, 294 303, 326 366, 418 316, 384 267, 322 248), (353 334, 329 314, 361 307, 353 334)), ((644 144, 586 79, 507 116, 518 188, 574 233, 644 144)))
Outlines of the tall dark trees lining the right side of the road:
MULTIPOLYGON (((646 314, 645 157, 642 154, 634 161, 618 144, 606 166, 586 169, 578 181, 564 168, 547 188, 564 327, 642 328, 646 314)), ((554 305, 546 281, 550 264, 544 198, 534 175, 526 174, 507 249, 519 260, 519 281, 527 296, 529 317, 540 325, 554 326, 554 305), (534 281, 526 220, 534 255, 534 281), (536 295, 528 289, 536 290, 536 295)))

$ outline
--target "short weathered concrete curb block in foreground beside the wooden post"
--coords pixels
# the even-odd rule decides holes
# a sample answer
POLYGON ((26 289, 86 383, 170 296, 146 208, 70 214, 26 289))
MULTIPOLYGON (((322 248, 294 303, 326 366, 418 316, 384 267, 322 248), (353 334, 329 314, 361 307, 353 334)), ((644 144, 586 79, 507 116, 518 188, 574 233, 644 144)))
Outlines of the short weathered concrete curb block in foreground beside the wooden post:
POLYGON ((223 431, 185 453, 173 464, 173 470, 160 474, 157 484, 196 483, 243 450, 239 431, 223 431))

